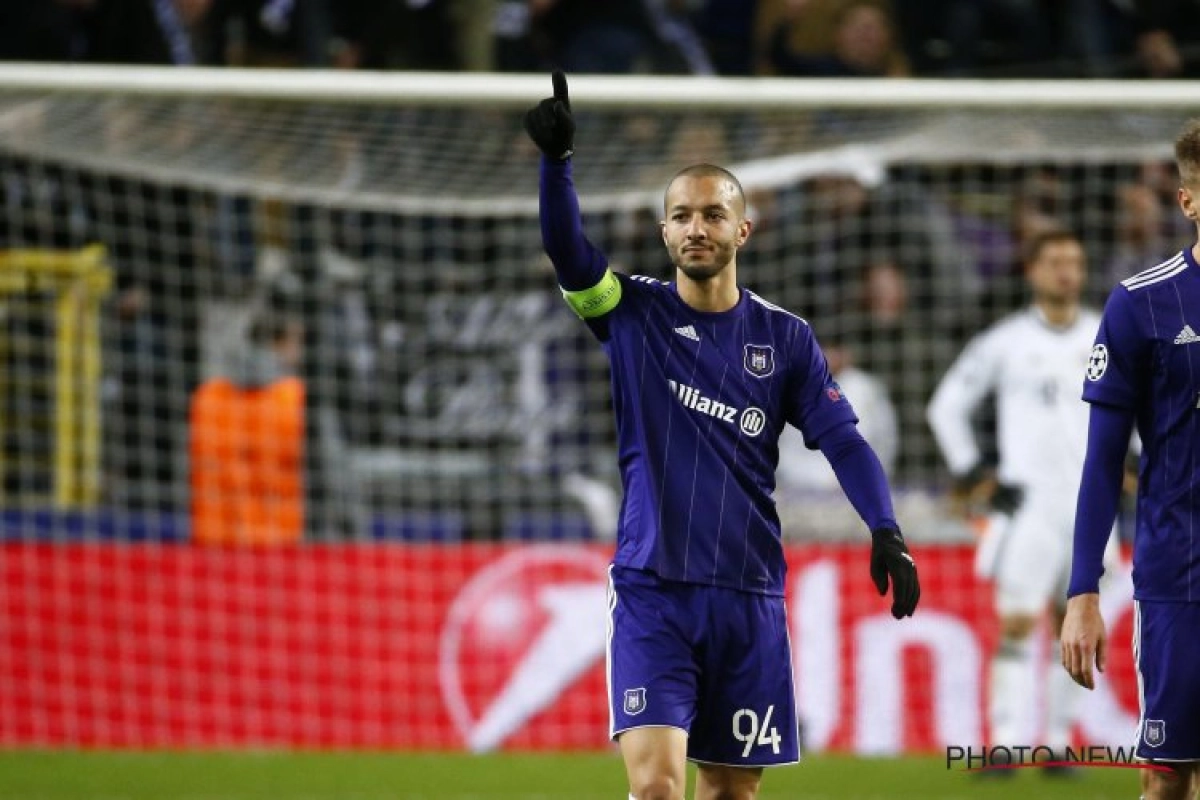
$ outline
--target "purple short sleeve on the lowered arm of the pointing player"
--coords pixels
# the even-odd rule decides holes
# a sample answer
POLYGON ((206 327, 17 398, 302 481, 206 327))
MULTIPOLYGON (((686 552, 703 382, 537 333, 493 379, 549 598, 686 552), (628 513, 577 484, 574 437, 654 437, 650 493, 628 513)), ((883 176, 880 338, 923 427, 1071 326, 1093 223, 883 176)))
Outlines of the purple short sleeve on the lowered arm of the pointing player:
POLYGON ((802 325, 788 353, 787 421, 804 435, 804 446, 816 450, 821 435, 858 416, 841 386, 829 374, 829 363, 812 330, 802 325))

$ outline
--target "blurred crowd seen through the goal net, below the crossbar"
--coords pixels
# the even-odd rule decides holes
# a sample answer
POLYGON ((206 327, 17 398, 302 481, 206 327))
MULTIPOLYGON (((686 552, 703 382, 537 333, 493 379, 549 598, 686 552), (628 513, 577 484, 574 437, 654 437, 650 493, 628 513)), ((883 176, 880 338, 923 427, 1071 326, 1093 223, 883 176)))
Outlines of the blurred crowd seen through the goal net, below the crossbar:
MULTIPOLYGON (((403 524, 464 513, 479 537, 564 503, 594 521, 613 513, 604 355, 554 289, 536 218, 281 203, 19 157, 0 157, 0 247, 108 247, 106 503, 187 507, 205 381, 253 389, 292 372, 305 385, 293 435, 307 444, 293 452, 306 462, 311 535, 362 535, 362 509, 403 524), (294 338, 266 342, 286 345, 286 371, 252 335, 264 314, 302 323, 284 332, 304 355, 294 338), (348 465, 354 453, 364 461, 348 465)), ((1078 231, 1098 307, 1187 240, 1175 187, 1165 161, 830 172, 751 190, 739 266, 751 289, 811 320, 898 486, 931 487, 946 474, 930 393, 964 342, 1028 302, 1030 242, 1078 231)), ((607 210, 587 228, 616 269, 670 278, 656 218, 607 210)), ((52 341, 16 308, 5 330, 52 341)), ((7 433, 28 439, 6 443, 16 497, 32 480, 16 465, 42 463, 49 443, 7 433)), ((270 438, 274 452, 282 439, 270 438)), ((781 489, 835 488, 806 455, 784 449, 781 489)))

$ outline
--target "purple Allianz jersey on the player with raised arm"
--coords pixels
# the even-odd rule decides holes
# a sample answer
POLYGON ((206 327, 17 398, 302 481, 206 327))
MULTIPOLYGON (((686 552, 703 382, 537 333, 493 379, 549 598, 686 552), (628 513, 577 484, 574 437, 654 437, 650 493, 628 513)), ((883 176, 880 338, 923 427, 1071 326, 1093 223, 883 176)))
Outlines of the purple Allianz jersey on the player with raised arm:
POLYGON ((775 465, 784 425, 811 447, 857 422, 808 323, 742 289, 726 312, 618 276, 602 318, 625 495, 614 564, 784 594, 775 465))

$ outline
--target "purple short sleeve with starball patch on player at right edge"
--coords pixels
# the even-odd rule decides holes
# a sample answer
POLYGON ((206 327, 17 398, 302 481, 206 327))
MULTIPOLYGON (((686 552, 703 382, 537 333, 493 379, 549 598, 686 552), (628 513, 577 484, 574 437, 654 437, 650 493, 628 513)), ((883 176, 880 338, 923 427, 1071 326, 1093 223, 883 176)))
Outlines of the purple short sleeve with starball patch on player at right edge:
POLYGON ((1084 399, 1132 409, 1138 387, 1148 380, 1150 339, 1138 324, 1133 294, 1117 285, 1104 306, 1096 344, 1087 360, 1084 399))

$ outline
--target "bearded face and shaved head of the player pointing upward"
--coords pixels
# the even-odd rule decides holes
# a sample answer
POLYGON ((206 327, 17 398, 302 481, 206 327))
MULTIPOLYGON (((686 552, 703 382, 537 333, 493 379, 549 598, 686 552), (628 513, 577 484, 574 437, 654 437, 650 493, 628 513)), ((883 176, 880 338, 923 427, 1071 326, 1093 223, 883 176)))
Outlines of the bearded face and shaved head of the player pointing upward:
POLYGON ((749 235, 745 203, 728 180, 684 175, 667 188, 662 241, 692 281, 720 275, 749 235))

